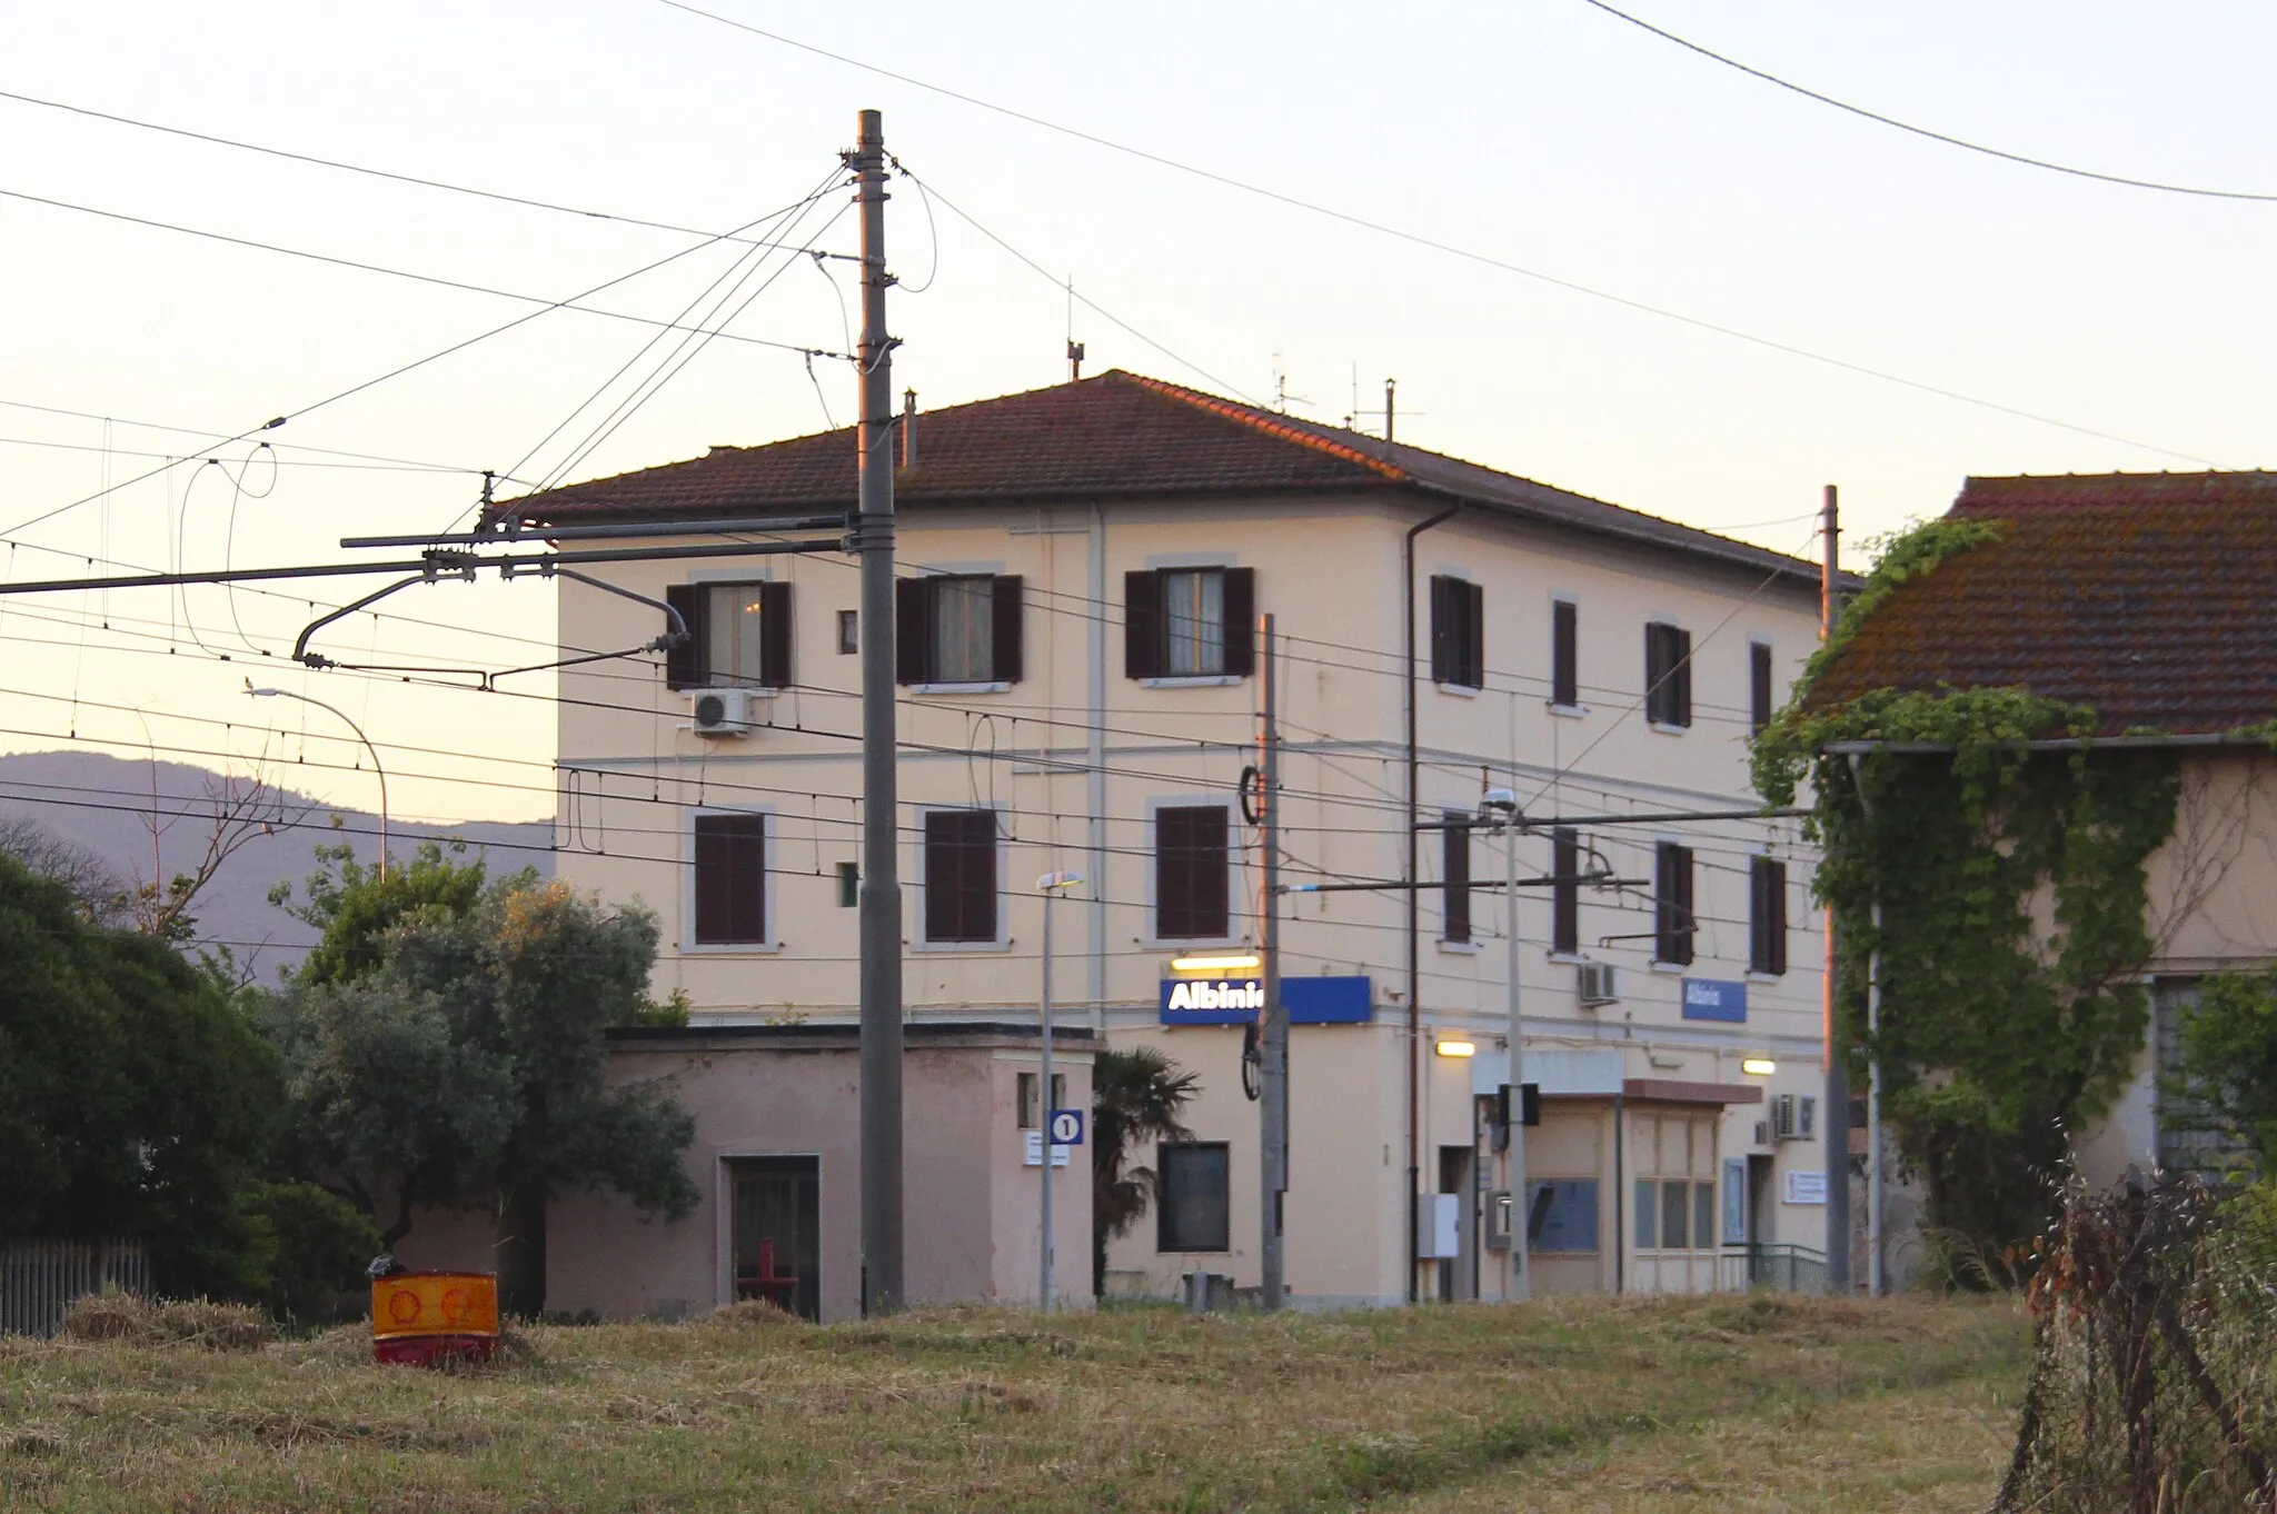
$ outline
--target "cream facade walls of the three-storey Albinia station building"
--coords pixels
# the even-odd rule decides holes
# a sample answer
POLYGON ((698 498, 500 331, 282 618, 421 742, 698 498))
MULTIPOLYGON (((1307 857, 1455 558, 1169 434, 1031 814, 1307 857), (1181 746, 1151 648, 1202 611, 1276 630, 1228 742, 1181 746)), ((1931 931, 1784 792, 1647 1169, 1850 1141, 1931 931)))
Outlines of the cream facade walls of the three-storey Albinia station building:
MULTIPOLYGON (((1113 1291, 1173 1293, 1191 1270, 1255 1284, 1261 1209, 1257 1104, 1241 1093, 1241 1031, 1170 1027, 1159 1013, 1168 958, 1179 947, 1255 945, 1257 849, 1239 811, 1232 931, 1209 943, 1164 940, 1150 908, 1150 815, 1166 804, 1234 804, 1241 770, 1255 758, 1259 681, 1127 678, 1125 574, 1255 569, 1257 610, 1271 612, 1280 633, 1284 879, 1400 879, 1400 546, 1428 512, 1414 492, 1387 487, 1380 496, 940 505, 902 515, 904 576, 931 569, 1025 581, 1018 683, 899 690, 911 1020, 1034 1015, 1043 963, 1031 883, 1050 870, 1082 872, 1088 886, 1054 906, 1059 1013, 1095 1027, 1109 1045, 1159 1045, 1198 1072, 1202 1091, 1189 1125, 1195 1138, 1230 1147, 1227 1250, 1159 1250, 1148 1220, 1111 1250, 1113 1291), (924 811, 936 806, 1000 811, 995 943, 922 940, 918 836, 924 811)), ((690 694, 665 688, 653 660, 565 669, 562 877, 658 908, 665 949, 656 990, 685 993, 697 1025, 852 1020, 856 911, 842 904, 840 867, 858 856, 861 706, 858 658, 838 651, 840 615, 858 599, 852 558, 633 562, 599 571, 653 599, 679 583, 788 583, 792 669, 790 688, 754 690, 754 729, 726 738, 692 733, 690 694), (692 945, 692 815, 704 811, 767 817, 765 945, 692 945)), ((1806 565, 1767 574, 1701 549, 1471 508, 1416 537, 1414 615, 1425 665, 1423 585, 1441 574, 1482 590, 1485 688, 1419 681, 1416 797, 1425 817, 1475 811, 1482 785, 1514 788, 1535 820, 1756 801, 1746 781, 1749 647, 1772 649, 1783 699, 1817 640, 1817 585, 1806 565), (1548 699, 1557 599, 1578 617, 1576 708, 1548 699), (1690 729, 1653 729, 1642 715, 1646 622, 1692 633, 1690 729)), ((640 644, 656 631, 653 610, 560 585, 565 656, 640 644)), ((1810 1177, 1824 1172, 1822 1141, 1760 1138, 1767 1100, 1815 1100, 1822 1086, 1824 945, 1808 899, 1810 851, 1794 822, 1585 824, 1583 833, 1621 879, 1644 886, 1580 897, 1578 956, 1612 963, 1619 974, 1619 999, 1596 1009, 1578 999, 1576 956, 1546 949, 1546 890, 1521 892, 1528 1077, 1546 1095, 1528 1166, 1535 1179, 1594 1182, 1598 1209, 1594 1250, 1537 1252, 1537 1289, 1735 1286, 1744 1282, 1744 1252, 1724 1245, 1726 1207, 1758 1243, 1824 1243, 1824 1207, 1808 1202, 1810 1177), (1653 931, 1655 842, 1694 849, 1699 933, 1690 968, 1655 965, 1653 943, 1642 938, 1653 931), (1790 965, 1778 977, 1749 972, 1749 856, 1765 851, 1787 865, 1790 965), (1744 984, 1744 1022, 1685 1018, 1685 979, 1744 984), (1744 1059, 1774 1061, 1776 1072, 1746 1075, 1744 1059), (1801 1179, 1792 1188, 1790 1172, 1801 1179), (1751 1184, 1744 1202, 1731 1193, 1740 1175, 1751 1184), (1708 1184, 1712 1243, 1639 1245, 1642 1182, 1708 1184)), ((1439 865, 1437 833, 1425 833, 1421 877, 1437 879, 1439 865)), ((1548 840, 1521 840, 1519 872, 1548 867, 1548 840)), ((1471 870, 1482 886, 1498 881, 1498 842, 1478 838, 1471 870)), ((1298 1025, 1291 1034, 1287 1273, 1300 1305, 1403 1302, 1412 1282, 1421 1298, 1503 1291, 1505 1257, 1485 1243, 1485 1209, 1507 1175, 1480 1122, 1480 1093, 1501 1081, 1507 1056, 1501 892, 1478 888, 1471 915, 1471 943, 1441 940, 1441 902, 1423 895, 1412 999, 1403 895, 1284 902, 1284 977, 1366 977, 1371 1011, 1362 1025, 1298 1025), (1435 1054, 1441 1040, 1457 1038, 1471 1040, 1478 1056, 1435 1054), (1409 1270, 1412 1191, 1441 1186, 1457 1188, 1460 1252, 1409 1270)), ((1819 1111, 1819 1136, 1833 1125, 1826 1116, 1819 1111)), ((920 1243, 915 1220, 911 1243, 920 1243)), ((1084 1252, 1063 1254, 1066 1273, 1088 1282, 1084 1252)))

